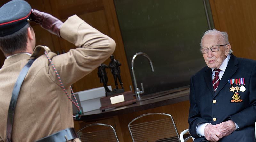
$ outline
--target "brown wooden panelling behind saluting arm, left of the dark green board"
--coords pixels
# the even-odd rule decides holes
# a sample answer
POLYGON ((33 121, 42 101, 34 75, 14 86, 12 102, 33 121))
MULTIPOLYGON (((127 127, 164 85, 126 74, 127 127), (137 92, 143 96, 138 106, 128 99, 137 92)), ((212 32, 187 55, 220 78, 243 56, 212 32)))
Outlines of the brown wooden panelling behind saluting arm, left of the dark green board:
MULTIPOLYGON (((53 15, 60 18, 62 21, 65 21, 69 16, 76 14, 88 24, 92 25, 94 28, 110 36, 116 41, 116 50, 113 55, 115 56, 115 59, 118 59, 122 63, 122 66, 120 67, 121 78, 124 82, 125 90, 129 91, 129 85, 132 85, 132 80, 113 1, 83 0, 74 2, 71 0, 55 0, 51 1, 50 3, 52 6, 53 15), (114 25, 113 23, 117 24, 114 25)), ((58 40, 61 47, 61 52, 67 52, 69 49, 75 48, 74 45, 63 39, 58 40)), ((104 64, 108 65, 109 62, 110 59, 107 59, 104 64)), ((110 69, 107 69, 106 71, 108 72, 108 85, 111 85, 112 88, 114 88, 115 84, 113 75, 111 74, 110 69)), ((100 83, 100 79, 97 75, 97 69, 73 85, 74 91, 82 91, 102 86, 103 84, 100 83)))

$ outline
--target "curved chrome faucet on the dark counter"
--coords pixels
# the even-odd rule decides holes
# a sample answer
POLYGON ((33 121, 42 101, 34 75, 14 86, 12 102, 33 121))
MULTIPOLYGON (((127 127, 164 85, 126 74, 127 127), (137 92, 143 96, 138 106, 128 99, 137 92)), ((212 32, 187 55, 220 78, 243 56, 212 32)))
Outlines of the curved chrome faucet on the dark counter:
POLYGON ((144 57, 146 57, 149 61, 149 64, 150 64, 150 67, 152 69, 152 72, 154 72, 154 68, 153 68, 153 64, 151 62, 151 59, 148 57, 148 55, 146 53, 143 53, 143 52, 139 52, 139 53, 136 53, 133 57, 132 57, 132 62, 131 62, 131 69, 132 69, 132 75, 133 75, 133 82, 134 82, 134 89, 135 89, 135 96, 137 99, 141 99, 140 97, 140 94, 143 94, 144 93, 144 88, 143 88, 143 83, 141 83, 141 88, 142 88, 142 91, 140 91, 140 89, 138 88, 137 86, 137 81, 136 81, 136 77, 135 77, 135 74, 134 74, 134 67, 133 67, 133 64, 134 64, 134 60, 137 56, 139 55, 142 55, 144 57))

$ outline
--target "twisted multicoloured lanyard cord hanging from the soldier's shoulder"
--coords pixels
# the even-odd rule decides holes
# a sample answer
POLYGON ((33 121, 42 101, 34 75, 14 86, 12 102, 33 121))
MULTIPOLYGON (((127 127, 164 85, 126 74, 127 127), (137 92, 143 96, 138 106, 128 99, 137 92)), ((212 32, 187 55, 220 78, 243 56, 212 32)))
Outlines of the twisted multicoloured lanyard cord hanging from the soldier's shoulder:
POLYGON ((61 79, 60 79, 60 75, 59 75, 58 71, 56 70, 55 66, 53 65, 52 60, 49 58, 48 53, 47 53, 47 52, 44 52, 44 54, 46 55, 47 59, 48 59, 49 62, 51 63, 51 65, 52 65, 52 67, 53 67, 53 69, 54 69, 54 71, 55 71, 55 73, 56 73, 56 75, 57 75, 57 77, 58 77, 58 79, 59 79, 60 86, 61 86, 62 90, 63 90, 63 91, 65 92, 65 94, 67 95, 68 99, 77 107, 77 115, 76 115, 76 116, 73 115, 74 120, 80 120, 82 111, 81 111, 81 109, 80 109, 80 107, 79 107, 79 104, 78 104, 77 99, 76 99, 76 97, 75 97, 75 95, 74 95, 74 92, 73 92, 72 87, 70 86, 71 94, 72 94, 72 96, 73 96, 73 98, 75 99, 76 102, 74 102, 74 101, 72 100, 72 98, 69 97, 69 95, 68 95, 66 89, 64 88, 64 85, 63 85, 63 83, 62 83, 62 81, 61 81, 61 79))

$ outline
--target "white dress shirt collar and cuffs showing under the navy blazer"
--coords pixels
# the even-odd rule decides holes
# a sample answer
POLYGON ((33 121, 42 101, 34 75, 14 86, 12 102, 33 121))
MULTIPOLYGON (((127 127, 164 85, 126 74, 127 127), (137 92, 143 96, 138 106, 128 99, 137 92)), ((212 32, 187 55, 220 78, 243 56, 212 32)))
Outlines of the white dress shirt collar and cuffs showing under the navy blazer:
MULTIPOLYGON (((228 61, 229 61, 229 59, 230 59, 230 55, 228 54, 227 55, 227 57, 226 57, 226 59, 223 61, 223 63, 221 64, 221 66, 220 66, 220 73, 219 73, 219 78, 220 78, 220 80, 221 80, 221 78, 222 78, 222 76, 223 76, 223 74, 224 74, 224 72, 225 72, 225 70, 226 70, 226 68, 227 68, 227 66, 228 66, 228 61)), ((214 76, 215 76, 215 71, 213 71, 215 68, 212 68, 212 79, 214 78, 214 76)), ((217 87, 218 88, 218 87, 217 87)), ((196 133, 197 133, 197 135, 198 136, 205 136, 204 135, 204 129, 205 129, 205 126, 207 125, 207 124, 211 124, 211 123, 201 123, 201 124, 198 124, 197 125, 197 128, 196 128, 196 133)), ((235 123, 235 125, 236 125, 236 129, 238 129, 239 127, 238 127, 238 125, 235 123)))

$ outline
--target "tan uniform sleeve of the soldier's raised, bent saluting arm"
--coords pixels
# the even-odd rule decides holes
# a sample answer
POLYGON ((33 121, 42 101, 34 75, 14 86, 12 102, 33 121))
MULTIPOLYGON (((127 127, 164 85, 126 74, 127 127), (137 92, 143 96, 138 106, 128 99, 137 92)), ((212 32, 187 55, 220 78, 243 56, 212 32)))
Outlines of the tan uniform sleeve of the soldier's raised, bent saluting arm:
MULTIPOLYGON (((77 47, 65 54, 52 56, 52 62, 65 87, 83 78, 108 59, 116 46, 113 39, 76 15, 64 22, 60 28, 60 36, 77 47)), ((49 66, 49 74, 56 82, 57 76, 51 66, 49 66)))

